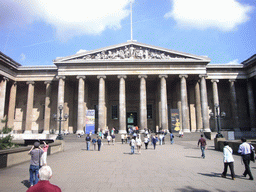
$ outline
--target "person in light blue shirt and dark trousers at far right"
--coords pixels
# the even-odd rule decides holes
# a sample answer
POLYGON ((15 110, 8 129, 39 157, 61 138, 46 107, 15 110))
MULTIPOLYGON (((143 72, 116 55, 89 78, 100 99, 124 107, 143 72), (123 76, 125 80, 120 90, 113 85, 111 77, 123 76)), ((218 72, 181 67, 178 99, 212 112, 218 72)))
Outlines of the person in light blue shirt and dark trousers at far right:
POLYGON ((253 180, 253 176, 250 169, 250 161, 251 161, 251 152, 254 149, 252 145, 246 142, 246 139, 244 137, 241 138, 242 144, 239 145, 238 153, 241 154, 245 171, 243 173, 243 176, 246 177, 249 175, 249 180, 253 180))

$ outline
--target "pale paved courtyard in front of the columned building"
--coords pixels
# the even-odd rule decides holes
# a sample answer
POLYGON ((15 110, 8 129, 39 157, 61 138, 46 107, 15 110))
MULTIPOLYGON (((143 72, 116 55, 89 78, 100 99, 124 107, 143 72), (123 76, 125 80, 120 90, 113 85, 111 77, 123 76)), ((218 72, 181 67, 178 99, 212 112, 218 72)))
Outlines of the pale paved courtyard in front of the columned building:
MULTIPOLYGON (((48 156, 53 170, 51 183, 63 192, 82 191, 256 191, 256 180, 242 177, 244 165, 234 155, 236 180, 222 178, 222 153, 208 141, 206 158, 202 159, 197 141, 175 138, 171 145, 157 145, 156 150, 142 148, 142 154, 131 155, 130 146, 104 143, 102 151, 86 151, 84 138, 65 142, 65 151, 48 156)), ((92 147, 91 147, 92 149, 92 147)), ((29 162, 0 169, 0 191, 26 191, 29 162)), ((256 164, 251 164, 256 179, 256 164)))

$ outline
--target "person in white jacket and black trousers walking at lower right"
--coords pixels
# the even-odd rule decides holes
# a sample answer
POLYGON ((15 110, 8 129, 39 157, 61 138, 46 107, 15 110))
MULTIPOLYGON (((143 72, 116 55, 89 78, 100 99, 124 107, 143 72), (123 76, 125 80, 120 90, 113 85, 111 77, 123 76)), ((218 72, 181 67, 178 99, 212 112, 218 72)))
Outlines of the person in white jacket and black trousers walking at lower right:
POLYGON ((224 171, 221 174, 221 177, 226 178, 228 166, 231 172, 232 180, 235 180, 235 172, 234 172, 234 158, 232 156, 233 150, 228 146, 228 142, 224 141, 223 148, 223 162, 224 162, 224 171))

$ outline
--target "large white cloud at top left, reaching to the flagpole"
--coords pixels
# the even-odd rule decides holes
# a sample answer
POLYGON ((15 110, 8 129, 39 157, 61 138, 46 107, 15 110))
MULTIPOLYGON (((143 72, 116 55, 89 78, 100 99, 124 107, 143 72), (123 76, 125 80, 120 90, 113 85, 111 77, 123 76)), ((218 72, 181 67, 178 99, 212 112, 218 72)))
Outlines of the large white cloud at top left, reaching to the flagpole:
MULTIPOLYGON (((134 0, 133 0, 134 1, 134 0)), ((130 0, 8 0, 0 3, 0 27, 26 26, 40 20, 50 24, 61 40, 76 35, 98 35, 121 28, 130 0)))

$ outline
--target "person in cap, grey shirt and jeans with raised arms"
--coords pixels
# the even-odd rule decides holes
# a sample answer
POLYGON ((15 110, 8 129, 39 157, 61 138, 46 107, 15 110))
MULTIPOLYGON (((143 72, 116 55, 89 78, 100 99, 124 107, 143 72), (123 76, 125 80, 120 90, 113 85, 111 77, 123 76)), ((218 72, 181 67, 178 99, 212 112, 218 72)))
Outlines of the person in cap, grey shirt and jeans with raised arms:
POLYGON ((29 182, 30 186, 38 183, 38 171, 40 166, 40 158, 44 153, 43 149, 40 147, 40 143, 36 141, 34 146, 31 147, 28 154, 31 155, 30 167, 29 167, 29 182))

